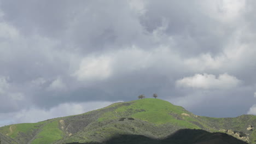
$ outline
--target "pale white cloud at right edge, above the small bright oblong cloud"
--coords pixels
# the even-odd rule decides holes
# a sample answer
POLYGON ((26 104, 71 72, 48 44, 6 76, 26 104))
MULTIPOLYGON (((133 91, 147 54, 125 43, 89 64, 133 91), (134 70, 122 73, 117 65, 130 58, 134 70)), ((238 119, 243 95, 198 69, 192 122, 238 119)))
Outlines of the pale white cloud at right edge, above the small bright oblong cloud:
MULTIPOLYGON (((184 59, 184 65, 193 71, 234 71, 252 67, 252 61, 255 60, 256 49, 254 44, 241 43, 241 37, 245 36, 246 29, 240 29, 234 32, 235 36, 230 37, 229 43, 223 49, 223 52, 213 56, 211 53, 201 53, 199 56, 184 59)), ((250 36, 251 37, 251 36, 250 36)))

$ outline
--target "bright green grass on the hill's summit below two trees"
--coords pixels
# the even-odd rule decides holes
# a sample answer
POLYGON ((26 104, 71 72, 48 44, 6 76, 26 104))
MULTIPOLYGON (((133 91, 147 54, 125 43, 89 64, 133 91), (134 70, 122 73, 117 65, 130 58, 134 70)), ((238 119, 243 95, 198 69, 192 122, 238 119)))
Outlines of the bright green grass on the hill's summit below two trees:
POLYGON ((133 117, 157 125, 172 123, 185 128, 199 129, 199 127, 193 123, 180 121, 170 115, 170 113, 177 113, 178 115, 181 115, 182 113, 190 114, 190 112, 186 111, 181 106, 172 105, 168 101, 149 98, 127 102, 127 104, 130 103, 131 105, 120 106, 114 111, 104 113, 101 118, 98 118, 98 122, 116 119, 119 117, 133 117))

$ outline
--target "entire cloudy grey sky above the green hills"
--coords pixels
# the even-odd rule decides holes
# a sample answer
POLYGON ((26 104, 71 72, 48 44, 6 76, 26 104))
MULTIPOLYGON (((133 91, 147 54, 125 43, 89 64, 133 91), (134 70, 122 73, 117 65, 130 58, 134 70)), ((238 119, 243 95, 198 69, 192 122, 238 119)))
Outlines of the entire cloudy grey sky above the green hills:
POLYGON ((0 0, 0 126, 139 94, 256 114, 254 0, 0 0))

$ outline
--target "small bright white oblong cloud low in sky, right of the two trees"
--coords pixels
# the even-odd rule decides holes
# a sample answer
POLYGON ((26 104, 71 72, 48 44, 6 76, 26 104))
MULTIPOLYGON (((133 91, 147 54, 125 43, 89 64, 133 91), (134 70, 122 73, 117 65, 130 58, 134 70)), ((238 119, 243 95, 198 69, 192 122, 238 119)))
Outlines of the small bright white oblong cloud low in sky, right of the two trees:
POLYGON ((212 74, 195 74, 176 81, 177 87, 191 87, 202 89, 228 89, 241 83, 235 76, 221 74, 218 77, 212 74))

